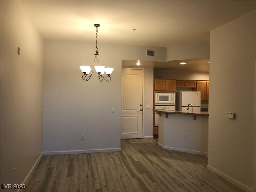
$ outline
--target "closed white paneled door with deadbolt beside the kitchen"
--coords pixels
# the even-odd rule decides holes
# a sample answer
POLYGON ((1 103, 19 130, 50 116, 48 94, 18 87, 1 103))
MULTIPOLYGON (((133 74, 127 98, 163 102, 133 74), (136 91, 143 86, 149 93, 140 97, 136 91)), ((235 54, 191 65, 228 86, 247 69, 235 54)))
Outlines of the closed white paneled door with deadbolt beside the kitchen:
POLYGON ((143 70, 122 69, 121 139, 142 138, 143 70))

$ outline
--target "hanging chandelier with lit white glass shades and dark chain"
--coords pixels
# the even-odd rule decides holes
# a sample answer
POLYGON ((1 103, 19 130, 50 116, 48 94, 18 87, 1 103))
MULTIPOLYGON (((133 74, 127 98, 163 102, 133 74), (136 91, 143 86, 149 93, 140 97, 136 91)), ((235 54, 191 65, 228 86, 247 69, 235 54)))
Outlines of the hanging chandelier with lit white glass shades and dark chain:
POLYGON ((94 54, 93 66, 92 66, 92 68, 90 68, 90 66, 85 66, 85 65, 80 66, 80 69, 84 73, 82 78, 85 81, 90 80, 93 73, 98 74, 98 80, 101 81, 101 82, 103 81, 103 79, 106 80, 106 81, 111 81, 110 74, 114 70, 113 68, 110 68, 110 67, 105 68, 105 66, 100 65, 98 42, 97 42, 98 41, 98 27, 99 26, 100 26, 99 24, 94 24, 94 27, 96 27, 96 50, 95 50, 95 54, 94 54), (96 70, 96 72, 94 72, 94 69, 96 70), (104 73, 106 73, 106 75, 104 75, 104 73))

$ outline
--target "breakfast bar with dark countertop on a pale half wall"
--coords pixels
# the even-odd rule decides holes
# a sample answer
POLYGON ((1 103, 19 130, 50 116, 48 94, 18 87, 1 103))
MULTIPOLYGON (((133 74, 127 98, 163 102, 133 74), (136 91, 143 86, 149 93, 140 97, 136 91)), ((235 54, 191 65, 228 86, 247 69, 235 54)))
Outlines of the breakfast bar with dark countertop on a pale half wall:
POLYGON ((208 112, 154 111, 159 115, 159 146, 168 150, 208 154, 208 112))

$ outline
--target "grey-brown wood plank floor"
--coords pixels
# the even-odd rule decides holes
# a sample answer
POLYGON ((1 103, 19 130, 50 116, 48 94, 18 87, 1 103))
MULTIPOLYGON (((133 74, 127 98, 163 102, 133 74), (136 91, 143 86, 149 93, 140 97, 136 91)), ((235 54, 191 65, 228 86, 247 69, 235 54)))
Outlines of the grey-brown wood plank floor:
POLYGON ((121 140, 121 152, 43 156, 22 192, 243 192, 201 155, 154 139, 121 140))

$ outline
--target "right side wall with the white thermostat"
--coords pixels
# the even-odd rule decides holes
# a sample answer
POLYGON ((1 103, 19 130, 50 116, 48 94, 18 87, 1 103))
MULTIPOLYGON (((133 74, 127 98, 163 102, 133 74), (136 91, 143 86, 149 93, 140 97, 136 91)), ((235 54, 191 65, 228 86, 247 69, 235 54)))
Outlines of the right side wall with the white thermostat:
POLYGON ((210 36, 208 168, 246 191, 253 174, 255 34, 254 10, 210 36), (236 113, 236 119, 226 118, 226 112, 236 113))

